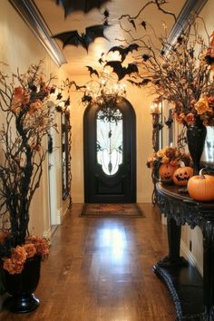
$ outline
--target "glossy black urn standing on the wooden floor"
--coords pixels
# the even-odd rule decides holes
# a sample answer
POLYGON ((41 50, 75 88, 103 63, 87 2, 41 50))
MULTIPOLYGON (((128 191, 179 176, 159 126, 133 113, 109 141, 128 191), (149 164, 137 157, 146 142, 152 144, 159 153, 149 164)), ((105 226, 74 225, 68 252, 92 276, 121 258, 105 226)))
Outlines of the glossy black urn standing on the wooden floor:
POLYGON ((4 270, 4 286, 9 294, 4 306, 14 313, 26 313, 39 306, 34 291, 40 279, 41 257, 28 258, 20 274, 9 274, 4 270))

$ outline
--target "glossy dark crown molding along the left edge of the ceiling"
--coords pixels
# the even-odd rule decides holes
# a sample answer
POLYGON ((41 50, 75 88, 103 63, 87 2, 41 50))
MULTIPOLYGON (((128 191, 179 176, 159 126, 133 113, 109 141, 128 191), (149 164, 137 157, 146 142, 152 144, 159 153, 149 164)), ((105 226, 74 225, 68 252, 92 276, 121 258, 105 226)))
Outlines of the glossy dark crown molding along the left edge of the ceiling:
POLYGON ((14 6, 16 12, 28 24, 37 39, 43 44, 46 52, 51 56, 53 61, 60 67, 67 63, 62 50, 51 37, 51 31, 40 14, 34 0, 9 0, 14 6))

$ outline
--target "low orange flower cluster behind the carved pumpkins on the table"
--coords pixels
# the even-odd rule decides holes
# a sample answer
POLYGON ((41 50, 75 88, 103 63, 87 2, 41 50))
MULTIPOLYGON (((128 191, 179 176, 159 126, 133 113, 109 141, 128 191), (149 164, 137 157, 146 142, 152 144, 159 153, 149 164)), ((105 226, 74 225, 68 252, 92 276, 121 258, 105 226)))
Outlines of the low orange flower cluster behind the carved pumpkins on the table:
POLYGON ((172 166, 179 166, 180 161, 184 162, 186 166, 190 166, 190 154, 181 152, 176 147, 165 147, 160 151, 153 152, 147 160, 147 167, 159 168, 161 164, 170 164, 172 166))

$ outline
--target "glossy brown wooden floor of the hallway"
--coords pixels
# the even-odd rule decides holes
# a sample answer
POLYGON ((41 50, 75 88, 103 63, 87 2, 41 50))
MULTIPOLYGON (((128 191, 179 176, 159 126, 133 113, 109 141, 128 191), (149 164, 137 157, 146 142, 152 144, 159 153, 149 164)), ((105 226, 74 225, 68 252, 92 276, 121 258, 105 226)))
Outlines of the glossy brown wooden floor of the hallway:
POLYGON ((158 209, 146 218, 79 218, 81 204, 54 231, 32 313, 0 312, 15 321, 174 321, 170 294, 152 272, 167 252, 158 209))

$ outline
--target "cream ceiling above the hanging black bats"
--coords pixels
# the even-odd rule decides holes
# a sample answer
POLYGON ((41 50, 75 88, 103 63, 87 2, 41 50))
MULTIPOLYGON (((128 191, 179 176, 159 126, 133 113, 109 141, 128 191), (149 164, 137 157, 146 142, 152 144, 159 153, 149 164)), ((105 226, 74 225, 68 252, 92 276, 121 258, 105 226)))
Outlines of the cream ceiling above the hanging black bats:
MULTIPOLYGON (((56 5, 53 0, 34 0, 34 5, 36 5, 40 14, 43 16, 44 22, 49 28, 50 35, 72 30, 77 30, 79 34, 81 34, 87 26, 102 24, 103 12, 106 8, 109 10, 108 23, 110 24, 110 27, 104 31, 108 40, 102 37, 96 38, 95 41, 90 44, 88 53, 82 46, 76 47, 73 45, 66 45, 63 48, 62 42, 58 39, 55 40, 57 46, 62 50, 63 56, 67 62, 64 67, 66 68, 67 73, 73 76, 88 74, 87 68, 85 67, 86 65, 90 65, 93 68, 99 68, 98 60, 101 57, 101 54, 103 52, 107 53, 112 45, 126 44, 124 43, 124 40, 127 40, 128 43, 131 44, 134 42, 134 39, 139 39, 139 37, 146 33, 152 33, 149 24, 152 25, 157 35, 164 34, 165 32, 169 34, 170 29, 174 24, 174 18, 172 15, 162 13, 154 2, 155 1, 149 0, 112 0, 105 3, 100 9, 94 8, 87 14, 77 11, 67 15, 65 18, 63 6, 56 5), (131 39, 130 35, 122 30, 119 24, 119 18, 126 14, 131 16, 137 15, 141 8, 147 3, 150 3, 150 5, 147 5, 145 10, 141 12, 139 18, 135 20, 137 30, 135 30, 133 25, 127 21, 127 18, 122 18, 121 20, 122 27, 131 30, 133 36, 133 39, 131 39), (146 22, 147 30, 141 26, 141 21, 146 22), (164 29, 163 23, 167 25, 167 30, 164 29)), ((169 0, 162 7, 164 10, 173 12, 178 16, 184 4, 185 0, 169 0)))

